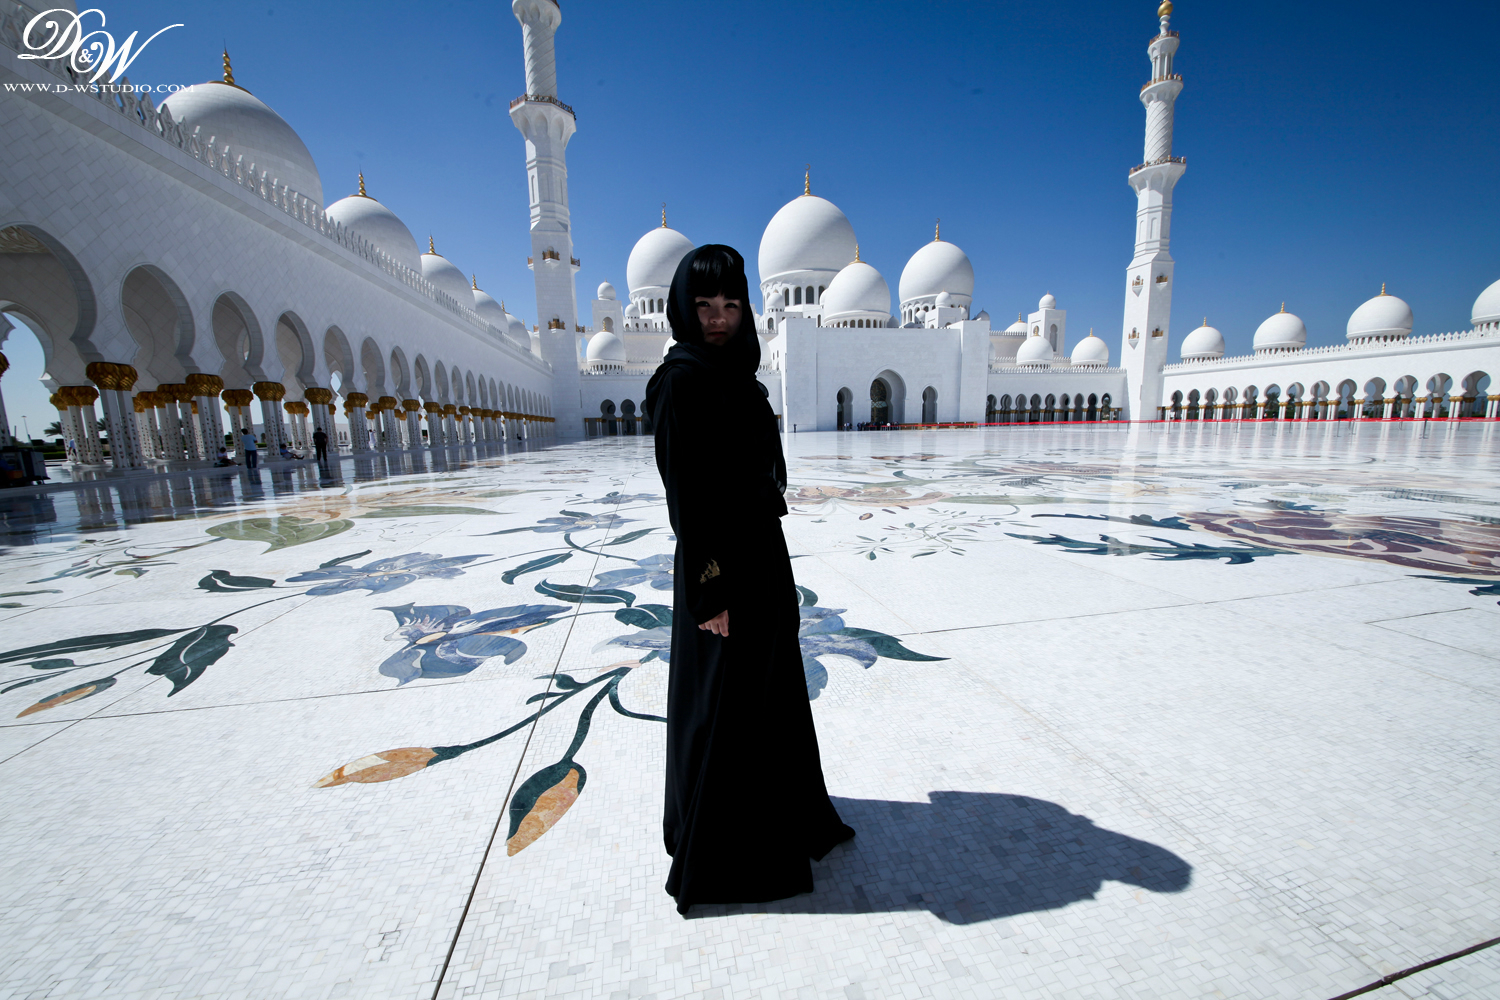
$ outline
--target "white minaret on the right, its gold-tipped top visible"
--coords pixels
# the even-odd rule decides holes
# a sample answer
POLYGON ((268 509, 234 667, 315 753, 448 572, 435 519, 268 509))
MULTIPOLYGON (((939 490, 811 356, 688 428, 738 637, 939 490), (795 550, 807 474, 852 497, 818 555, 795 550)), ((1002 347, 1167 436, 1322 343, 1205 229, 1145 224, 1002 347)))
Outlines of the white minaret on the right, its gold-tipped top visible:
POLYGON ((1158 9, 1161 33, 1150 39, 1150 82, 1142 87, 1146 105, 1146 157, 1130 172, 1136 189, 1136 258, 1125 271, 1125 328, 1120 364, 1126 373, 1126 420, 1155 420, 1161 405, 1161 366, 1167 363, 1172 319, 1172 189, 1186 169, 1172 154, 1172 114, 1182 76, 1172 72, 1178 33, 1168 28, 1172 0, 1158 9))

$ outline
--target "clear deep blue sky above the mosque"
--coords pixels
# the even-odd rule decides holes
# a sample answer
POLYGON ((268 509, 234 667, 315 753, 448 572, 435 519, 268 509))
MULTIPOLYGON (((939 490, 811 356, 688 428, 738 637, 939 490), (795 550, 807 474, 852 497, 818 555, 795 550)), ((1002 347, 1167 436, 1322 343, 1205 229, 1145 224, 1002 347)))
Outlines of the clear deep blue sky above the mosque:
MULTIPOLYGON (((138 82, 216 78, 228 42, 237 82, 300 132, 330 201, 363 168, 420 241, 430 232, 536 321, 508 3, 120 0, 105 12, 116 37, 184 22, 132 66, 138 82)), ((1173 27, 1185 76, 1174 151, 1188 159, 1173 360, 1204 315, 1232 354, 1248 351, 1282 300, 1311 345, 1340 343, 1382 282, 1412 303, 1418 333, 1467 328, 1500 279, 1500 4, 1184 0, 1173 27)), ((892 297, 942 217, 974 261, 975 307, 1005 321, 1050 291, 1070 348, 1094 327, 1118 357, 1125 174, 1142 157, 1137 91, 1155 30, 1155 0, 562 0, 580 310, 602 280, 624 292, 626 256, 662 201, 688 238, 754 261, 812 162, 813 190, 849 216, 892 297)), ((8 399, 30 378, 16 340, 8 399)))

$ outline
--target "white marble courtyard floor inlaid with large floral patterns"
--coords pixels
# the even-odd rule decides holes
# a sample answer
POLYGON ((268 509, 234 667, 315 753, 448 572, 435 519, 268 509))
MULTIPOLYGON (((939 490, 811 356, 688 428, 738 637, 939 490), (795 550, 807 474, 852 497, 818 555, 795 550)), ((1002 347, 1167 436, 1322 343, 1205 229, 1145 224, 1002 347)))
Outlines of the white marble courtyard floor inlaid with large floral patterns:
MULTIPOLYGON (((648 439, 0 498, 0 999, 1326 1000, 1456 952, 1500 934, 1497 445, 788 438, 860 835, 687 919, 648 439)), ((1368 996, 1500 996, 1500 949, 1368 996)))

